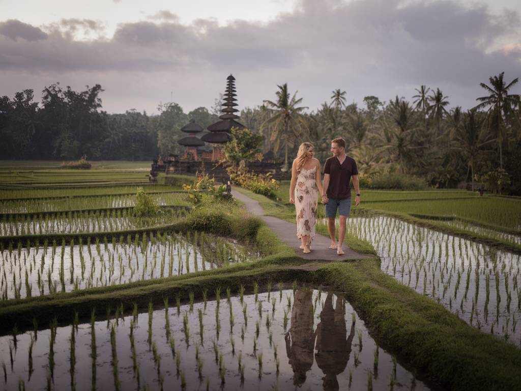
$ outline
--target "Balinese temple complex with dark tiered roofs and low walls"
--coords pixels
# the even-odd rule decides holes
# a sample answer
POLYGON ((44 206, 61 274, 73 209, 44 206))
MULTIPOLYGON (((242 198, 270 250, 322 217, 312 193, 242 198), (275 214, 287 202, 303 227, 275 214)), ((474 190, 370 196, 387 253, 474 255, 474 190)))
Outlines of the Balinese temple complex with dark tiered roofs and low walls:
MULTIPOLYGON (((239 110, 235 97, 237 90, 235 89, 235 78, 230 75, 227 78, 224 102, 222 103, 221 116, 219 120, 208 126, 208 133, 201 138, 197 137, 203 128, 196 124, 192 119, 188 125, 181 128, 181 131, 188 133, 187 137, 178 140, 178 143, 184 146, 182 156, 169 154, 167 157, 158 158, 152 163, 150 170, 150 180, 156 181, 159 173, 192 175, 196 172, 208 173, 216 179, 227 180, 228 174, 219 161, 224 157, 222 154, 222 145, 231 140, 231 129, 243 129, 244 125, 238 122, 239 116, 236 114, 239 110), (204 151, 202 146, 208 143, 212 145, 212 151, 204 151)), ((269 151, 265 154, 262 162, 247 163, 247 168, 257 174, 271 173, 275 179, 289 179, 289 173, 282 173, 280 170, 281 162, 276 161, 273 152, 269 151)))

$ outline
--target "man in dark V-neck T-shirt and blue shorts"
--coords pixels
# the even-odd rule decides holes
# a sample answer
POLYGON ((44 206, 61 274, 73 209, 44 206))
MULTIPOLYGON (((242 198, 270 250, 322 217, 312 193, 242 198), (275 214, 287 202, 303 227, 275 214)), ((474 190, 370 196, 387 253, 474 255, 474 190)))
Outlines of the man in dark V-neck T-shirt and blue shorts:
POLYGON ((329 236, 331 237, 330 249, 336 249, 338 255, 342 255, 342 244, 345 237, 345 223, 351 214, 351 187, 356 192, 355 206, 360 203, 360 189, 358 187, 358 169, 352 157, 345 154, 345 140, 337 138, 331 141, 332 157, 326 160, 324 165, 324 186, 322 186, 322 203, 326 204, 326 217, 329 236), (338 243, 335 232, 335 219, 339 214, 340 224, 338 228, 338 243))

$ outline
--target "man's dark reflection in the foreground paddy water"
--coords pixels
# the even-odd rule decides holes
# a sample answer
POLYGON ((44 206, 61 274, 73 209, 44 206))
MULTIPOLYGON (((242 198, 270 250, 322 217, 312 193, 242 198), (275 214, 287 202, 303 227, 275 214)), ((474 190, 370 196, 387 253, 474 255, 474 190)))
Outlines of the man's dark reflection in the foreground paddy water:
POLYGON ((329 293, 315 332, 317 338, 315 359, 318 367, 326 375, 323 378, 325 390, 339 389, 337 375, 345 370, 351 353, 355 324, 352 324, 351 332, 346 339, 344 313, 344 299, 337 297, 336 307, 333 309, 333 294, 329 293))

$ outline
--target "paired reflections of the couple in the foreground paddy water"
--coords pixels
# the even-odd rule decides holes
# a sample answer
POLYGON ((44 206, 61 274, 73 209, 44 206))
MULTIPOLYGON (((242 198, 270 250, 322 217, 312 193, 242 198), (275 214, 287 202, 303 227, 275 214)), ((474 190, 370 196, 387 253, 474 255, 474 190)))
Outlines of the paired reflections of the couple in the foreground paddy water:
POLYGON ((286 352, 293 368, 293 383, 302 385, 306 372, 313 366, 313 359, 324 372, 325 390, 339 389, 337 375, 348 364, 355 324, 351 325, 349 337, 345 327, 345 301, 337 297, 333 308, 333 294, 329 293, 320 313, 320 323, 313 331, 313 291, 297 290, 291 311, 291 327, 286 334, 286 352), (315 351, 316 340, 316 353, 315 351))

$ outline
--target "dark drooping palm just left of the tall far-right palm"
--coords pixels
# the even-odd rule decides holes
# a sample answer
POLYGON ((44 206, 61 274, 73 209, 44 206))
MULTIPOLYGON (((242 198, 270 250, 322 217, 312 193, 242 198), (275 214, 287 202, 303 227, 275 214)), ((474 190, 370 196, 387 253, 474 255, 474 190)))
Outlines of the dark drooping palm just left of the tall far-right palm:
POLYGON ((462 126, 454 128, 453 140, 458 146, 454 146, 453 149, 462 151, 467 158, 468 165, 465 180, 467 180, 470 172, 472 191, 474 191, 474 160, 483 146, 494 141, 491 139, 490 133, 485 134, 482 131, 484 121, 484 119, 477 118, 476 110, 473 109, 462 115, 462 126))

